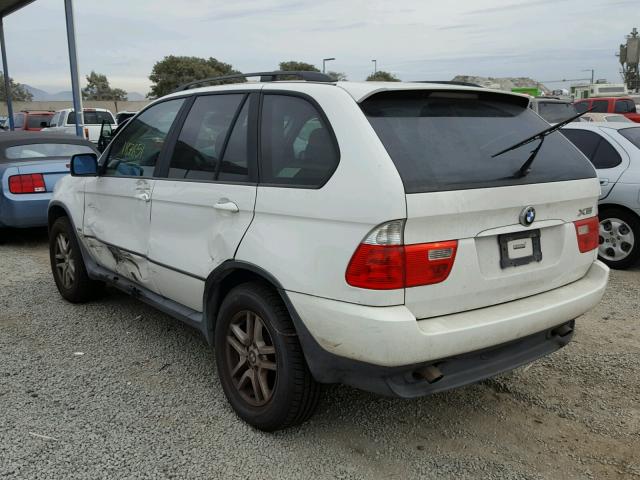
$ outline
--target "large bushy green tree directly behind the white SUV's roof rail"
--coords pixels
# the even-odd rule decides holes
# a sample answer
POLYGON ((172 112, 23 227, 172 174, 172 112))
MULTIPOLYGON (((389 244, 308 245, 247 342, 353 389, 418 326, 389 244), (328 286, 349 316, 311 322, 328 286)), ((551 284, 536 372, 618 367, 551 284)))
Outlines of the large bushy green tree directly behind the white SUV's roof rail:
MULTIPOLYGON (((240 72, 234 70, 230 64, 220 62, 212 57, 207 59, 168 55, 153 66, 151 75, 149 75, 149 80, 153 82, 153 85, 147 97, 162 97, 185 83, 234 73, 240 72)), ((238 82, 238 80, 221 83, 232 82, 238 82)))

